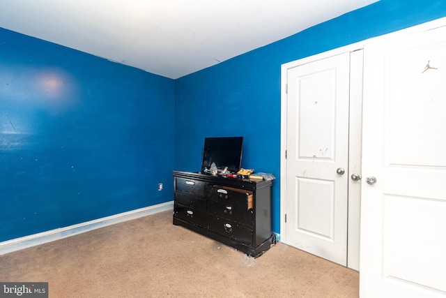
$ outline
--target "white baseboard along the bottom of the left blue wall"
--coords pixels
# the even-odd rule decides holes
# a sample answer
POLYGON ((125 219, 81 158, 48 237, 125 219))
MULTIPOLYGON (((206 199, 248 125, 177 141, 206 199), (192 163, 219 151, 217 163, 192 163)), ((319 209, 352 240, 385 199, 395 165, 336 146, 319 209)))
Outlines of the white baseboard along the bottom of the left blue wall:
POLYGON ((85 223, 78 223, 77 225, 70 225, 65 228, 59 228, 32 234, 8 241, 0 242, 0 255, 12 253, 13 251, 20 251, 24 248, 44 244, 47 242, 63 239, 74 236, 84 232, 89 232, 98 228, 104 228, 107 225, 114 225, 115 223, 123 223, 124 221, 131 221, 132 219, 148 216, 162 211, 174 209, 174 201, 156 204, 150 207, 135 209, 132 211, 123 212, 112 216, 98 218, 93 221, 86 221, 85 223))

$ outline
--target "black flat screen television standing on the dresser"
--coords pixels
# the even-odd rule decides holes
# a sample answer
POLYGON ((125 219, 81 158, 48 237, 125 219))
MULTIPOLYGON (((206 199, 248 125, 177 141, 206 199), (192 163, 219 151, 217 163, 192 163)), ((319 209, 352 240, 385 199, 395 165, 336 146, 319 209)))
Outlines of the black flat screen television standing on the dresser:
POLYGON ((242 163, 243 137, 206 137, 203 147, 201 172, 207 172, 215 163, 219 171, 228 167, 230 172, 238 172, 242 163))

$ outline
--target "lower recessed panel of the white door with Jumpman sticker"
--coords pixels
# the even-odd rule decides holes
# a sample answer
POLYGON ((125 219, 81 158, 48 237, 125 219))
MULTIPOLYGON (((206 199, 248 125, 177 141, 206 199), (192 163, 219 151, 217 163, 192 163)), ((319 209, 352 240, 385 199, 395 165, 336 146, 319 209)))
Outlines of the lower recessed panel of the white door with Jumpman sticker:
POLYGON ((444 275, 420 270, 435 270, 431 265, 446 264, 445 247, 438 246, 436 239, 440 227, 446 226, 445 202, 401 195, 384 195, 383 201, 384 274, 401 282, 446 291, 444 275), (414 245, 414 239, 422 245, 414 245))

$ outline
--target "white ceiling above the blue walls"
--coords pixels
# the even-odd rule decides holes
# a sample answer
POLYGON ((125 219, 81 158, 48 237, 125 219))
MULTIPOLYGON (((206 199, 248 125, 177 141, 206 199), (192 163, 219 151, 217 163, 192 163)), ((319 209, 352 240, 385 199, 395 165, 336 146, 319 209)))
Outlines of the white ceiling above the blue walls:
POLYGON ((0 0, 0 27, 176 79, 376 0, 0 0))

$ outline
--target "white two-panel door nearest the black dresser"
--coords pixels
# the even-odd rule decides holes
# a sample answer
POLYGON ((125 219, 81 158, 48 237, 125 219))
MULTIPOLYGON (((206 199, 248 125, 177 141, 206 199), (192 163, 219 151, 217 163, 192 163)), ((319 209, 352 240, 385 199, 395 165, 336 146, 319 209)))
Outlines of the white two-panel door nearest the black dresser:
POLYGON ((286 243, 346 265, 350 53, 288 70, 286 243), (337 174, 337 169, 344 174, 337 174))

